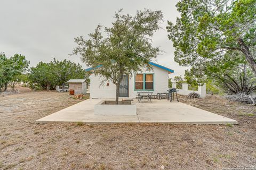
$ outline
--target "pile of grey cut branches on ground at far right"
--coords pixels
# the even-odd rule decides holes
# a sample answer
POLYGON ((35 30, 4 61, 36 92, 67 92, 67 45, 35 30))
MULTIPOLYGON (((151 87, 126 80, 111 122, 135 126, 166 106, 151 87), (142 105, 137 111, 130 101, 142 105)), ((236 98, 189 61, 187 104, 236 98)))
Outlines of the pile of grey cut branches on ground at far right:
POLYGON ((226 95, 226 99, 230 101, 236 101, 239 103, 252 104, 256 105, 256 95, 246 95, 246 94, 235 94, 235 95, 226 95))

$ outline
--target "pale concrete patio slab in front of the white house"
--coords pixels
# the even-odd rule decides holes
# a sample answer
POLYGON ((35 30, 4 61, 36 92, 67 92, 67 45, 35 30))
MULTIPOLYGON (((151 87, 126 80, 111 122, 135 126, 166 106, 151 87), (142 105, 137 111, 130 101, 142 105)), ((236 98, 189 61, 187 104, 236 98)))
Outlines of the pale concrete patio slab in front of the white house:
POLYGON ((43 117, 36 123, 69 123, 82 122, 86 124, 108 123, 170 123, 170 124, 237 124, 237 121, 218 114, 204 111, 190 105, 166 100, 152 100, 137 105, 138 115, 103 116, 94 115, 94 105, 102 99, 87 99, 43 117))

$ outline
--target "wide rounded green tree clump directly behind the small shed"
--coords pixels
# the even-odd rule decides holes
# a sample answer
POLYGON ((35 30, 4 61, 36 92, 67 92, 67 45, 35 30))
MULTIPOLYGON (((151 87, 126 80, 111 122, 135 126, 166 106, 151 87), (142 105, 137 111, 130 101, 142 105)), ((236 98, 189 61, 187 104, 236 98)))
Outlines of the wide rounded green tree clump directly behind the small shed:
POLYGON ((89 74, 81 65, 54 58, 50 63, 39 62, 36 67, 31 67, 29 86, 35 90, 53 90, 58 85, 64 87, 70 79, 88 79, 88 77, 89 74))

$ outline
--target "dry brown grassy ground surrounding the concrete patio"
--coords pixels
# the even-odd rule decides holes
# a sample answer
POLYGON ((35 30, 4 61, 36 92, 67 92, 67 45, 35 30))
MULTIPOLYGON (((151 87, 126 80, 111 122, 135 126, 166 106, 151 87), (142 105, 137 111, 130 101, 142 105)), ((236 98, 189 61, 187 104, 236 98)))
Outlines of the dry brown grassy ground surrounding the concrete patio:
POLYGON ((239 125, 81 123, 35 120, 81 100, 67 93, 0 97, 0 169, 222 169, 256 165, 256 106, 218 96, 181 102, 239 125))

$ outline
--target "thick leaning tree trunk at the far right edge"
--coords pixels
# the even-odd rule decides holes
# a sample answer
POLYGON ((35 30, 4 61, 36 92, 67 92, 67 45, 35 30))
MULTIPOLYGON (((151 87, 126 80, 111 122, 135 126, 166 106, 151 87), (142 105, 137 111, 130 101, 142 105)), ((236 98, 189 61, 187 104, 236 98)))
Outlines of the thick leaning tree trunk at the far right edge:
POLYGON ((254 61, 254 58, 252 57, 252 54, 250 53, 249 48, 245 45, 244 40, 242 38, 239 38, 238 44, 241 46, 241 51, 245 55, 246 61, 249 63, 249 65, 252 68, 252 71, 254 75, 256 76, 256 62, 254 61))

